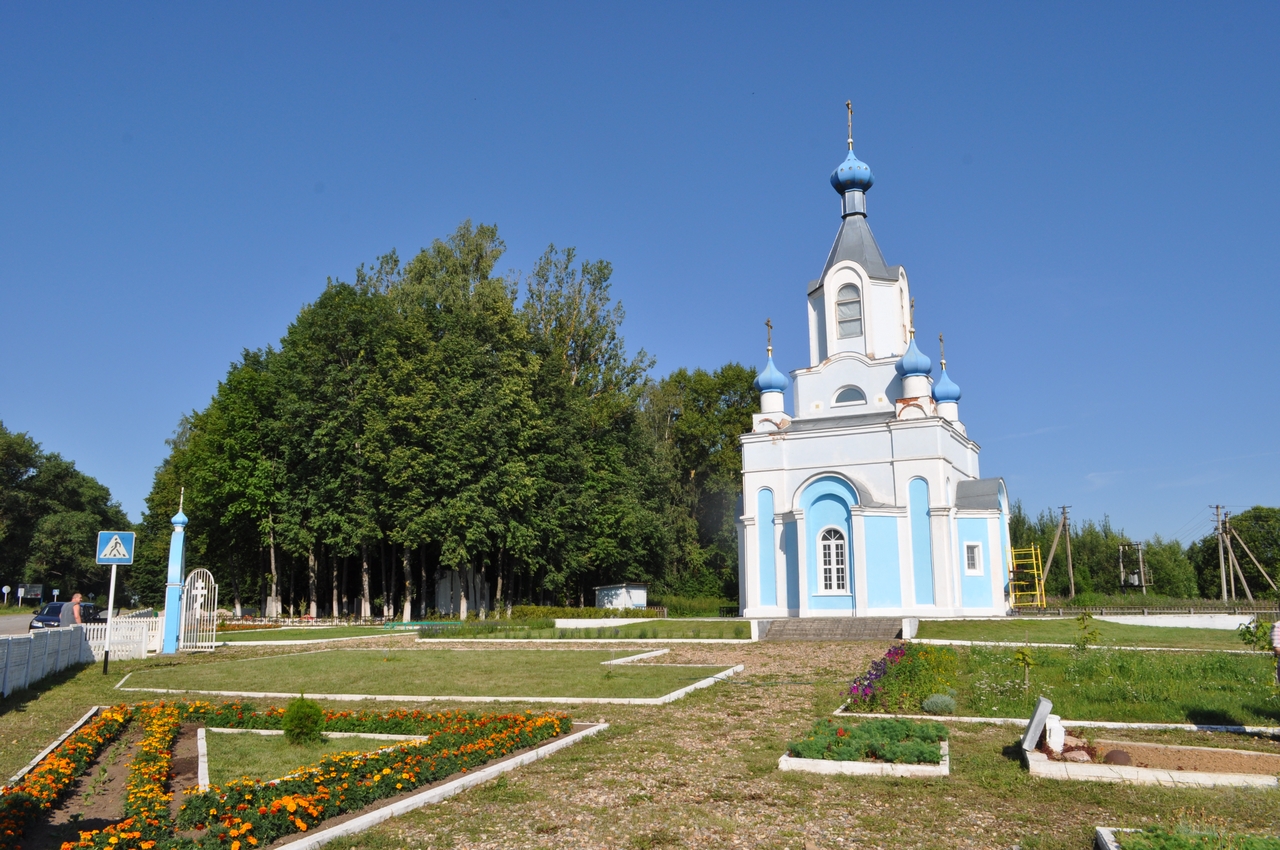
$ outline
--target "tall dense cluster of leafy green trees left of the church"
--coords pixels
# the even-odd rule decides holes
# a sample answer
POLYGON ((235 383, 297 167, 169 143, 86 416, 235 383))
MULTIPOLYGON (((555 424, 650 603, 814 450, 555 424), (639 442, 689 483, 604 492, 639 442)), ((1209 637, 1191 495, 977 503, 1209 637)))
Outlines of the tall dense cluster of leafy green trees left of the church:
POLYGON ((134 591, 159 599, 184 493, 188 566, 225 605, 408 618, 591 604, 623 580, 736 594, 751 370, 653 383, 608 262, 553 246, 521 285, 493 274, 502 251, 465 223, 330 280, 279 348, 246 351, 170 440, 134 591))

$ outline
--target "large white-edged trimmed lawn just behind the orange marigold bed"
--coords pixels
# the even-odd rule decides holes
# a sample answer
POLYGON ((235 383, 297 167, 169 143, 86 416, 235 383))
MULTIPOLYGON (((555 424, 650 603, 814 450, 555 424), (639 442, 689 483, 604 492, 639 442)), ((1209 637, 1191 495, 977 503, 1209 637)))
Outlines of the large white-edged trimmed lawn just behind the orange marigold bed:
POLYGON ((608 650, 332 649, 140 670, 125 687, 404 696, 652 698, 723 670, 600 663, 626 654, 608 650))

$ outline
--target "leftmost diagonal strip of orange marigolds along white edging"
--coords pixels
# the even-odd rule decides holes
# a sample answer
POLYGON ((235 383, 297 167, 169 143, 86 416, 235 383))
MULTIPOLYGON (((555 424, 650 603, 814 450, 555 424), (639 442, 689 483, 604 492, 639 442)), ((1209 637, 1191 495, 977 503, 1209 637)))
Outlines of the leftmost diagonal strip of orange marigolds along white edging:
POLYGON ((104 709, 46 755, 13 787, 0 792, 0 850, 19 846, 22 833, 41 812, 54 808, 84 768, 133 719, 133 709, 104 709))

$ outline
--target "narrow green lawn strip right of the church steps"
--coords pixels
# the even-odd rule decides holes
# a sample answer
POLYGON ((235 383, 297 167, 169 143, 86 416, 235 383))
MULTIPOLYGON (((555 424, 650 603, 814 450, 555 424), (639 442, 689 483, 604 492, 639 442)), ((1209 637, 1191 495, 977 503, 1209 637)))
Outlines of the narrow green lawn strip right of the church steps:
MULTIPOLYGON (((1089 629, 1097 629, 1098 644, 1107 646, 1248 649, 1234 631, 1224 629, 1129 626, 1102 620, 1091 620, 1089 629)), ((1080 626, 1075 620, 922 620, 916 638, 1074 644, 1079 634, 1080 626)))

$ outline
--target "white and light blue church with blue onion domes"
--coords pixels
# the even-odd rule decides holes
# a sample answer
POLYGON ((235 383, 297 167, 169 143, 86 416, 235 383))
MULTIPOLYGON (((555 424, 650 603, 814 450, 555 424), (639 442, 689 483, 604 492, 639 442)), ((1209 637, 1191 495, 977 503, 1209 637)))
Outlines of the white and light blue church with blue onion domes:
POLYGON ((744 617, 956 617, 1009 611, 1009 495, 978 474, 960 388, 915 342, 902 266, 867 223, 870 168, 832 173, 842 221, 808 288, 809 366, 773 348, 742 440, 744 617))

